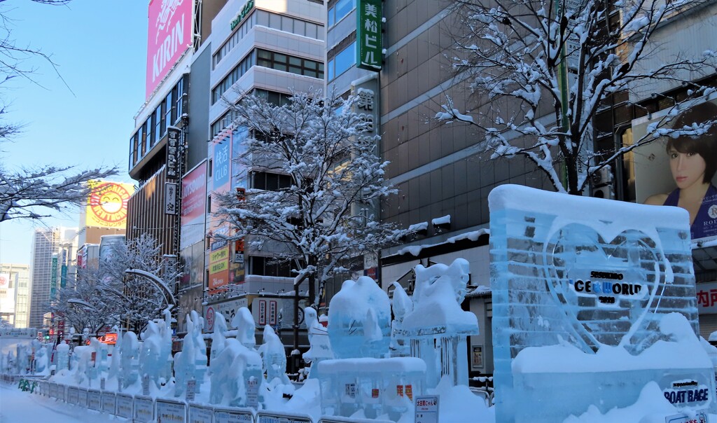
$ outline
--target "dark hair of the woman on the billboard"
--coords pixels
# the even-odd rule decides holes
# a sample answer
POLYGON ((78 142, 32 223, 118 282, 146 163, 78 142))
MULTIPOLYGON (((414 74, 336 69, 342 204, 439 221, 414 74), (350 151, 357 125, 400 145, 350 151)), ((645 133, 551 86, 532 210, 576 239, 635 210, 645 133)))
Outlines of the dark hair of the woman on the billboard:
POLYGON ((668 138, 667 151, 670 148, 680 153, 697 153, 705 161, 705 176, 703 183, 708 183, 717 171, 717 105, 704 102, 688 108, 675 119, 673 128, 691 127, 695 123, 712 121, 712 125, 701 136, 678 136, 668 138))

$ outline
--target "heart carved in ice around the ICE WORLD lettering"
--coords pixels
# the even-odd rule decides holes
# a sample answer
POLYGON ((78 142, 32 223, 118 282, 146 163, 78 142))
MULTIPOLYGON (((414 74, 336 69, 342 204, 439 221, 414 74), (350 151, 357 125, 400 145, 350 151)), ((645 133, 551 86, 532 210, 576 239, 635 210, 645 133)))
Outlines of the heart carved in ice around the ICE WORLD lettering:
POLYGON ((580 224, 561 227, 543 251, 546 285, 574 328, 581 348, 617 346, 647 323, 665 262, 645 233, 604 239, 580 224))

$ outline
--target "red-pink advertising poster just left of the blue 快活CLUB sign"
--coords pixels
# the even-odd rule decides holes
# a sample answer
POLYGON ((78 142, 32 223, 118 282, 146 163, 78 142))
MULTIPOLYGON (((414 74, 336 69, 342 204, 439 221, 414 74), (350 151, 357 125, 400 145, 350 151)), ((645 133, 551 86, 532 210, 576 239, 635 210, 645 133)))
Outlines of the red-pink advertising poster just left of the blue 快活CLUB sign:
POLYGON ((204 242, 206 210, 206 161, 181 179, 181 240, 179 248, 204 242))

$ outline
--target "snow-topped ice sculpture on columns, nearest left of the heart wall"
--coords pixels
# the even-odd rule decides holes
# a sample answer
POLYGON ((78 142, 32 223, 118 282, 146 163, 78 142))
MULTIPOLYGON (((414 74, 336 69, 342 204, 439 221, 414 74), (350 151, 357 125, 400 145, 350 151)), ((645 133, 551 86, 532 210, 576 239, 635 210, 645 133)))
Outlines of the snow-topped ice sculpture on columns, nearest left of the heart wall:
POLYGON ((478 318, 462 310, 470 266, 456 259, 450 266, 417 265, 413 310, 404 315, 400 334, 410 342, 411 356, 427 363, 427 386, 438 385, 443 376, 451 384, 468 384, 466 339, 478 334, 478 318))

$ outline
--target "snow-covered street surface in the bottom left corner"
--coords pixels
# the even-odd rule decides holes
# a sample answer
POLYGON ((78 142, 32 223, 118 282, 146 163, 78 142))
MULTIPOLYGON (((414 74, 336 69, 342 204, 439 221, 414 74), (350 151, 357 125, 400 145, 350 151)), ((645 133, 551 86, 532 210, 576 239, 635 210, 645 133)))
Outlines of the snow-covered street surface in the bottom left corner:
POLYGON ((0 383, 0 422, 104 423, 123 422, 120 417, 102 414, 57 399, 21 391, 16 384, 0 383))

